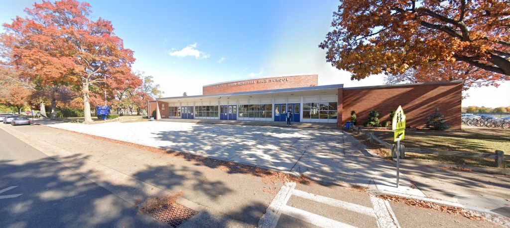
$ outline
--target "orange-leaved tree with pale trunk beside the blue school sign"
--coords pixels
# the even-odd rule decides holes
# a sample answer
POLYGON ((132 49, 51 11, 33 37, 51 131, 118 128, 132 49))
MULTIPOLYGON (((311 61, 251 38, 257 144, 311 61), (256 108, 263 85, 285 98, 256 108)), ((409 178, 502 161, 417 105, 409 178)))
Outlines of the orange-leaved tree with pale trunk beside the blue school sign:
POLYGON ((124 48, 110 21, 89 19, 88 3, 43 1, 25 12, 28 17, 4 24, 2 42, 10 48, 14 65, 43 86, 77 88, 85 123, 91 123, 90 87, 104 90, 109 82, 132 77, 133 51, 124 48))

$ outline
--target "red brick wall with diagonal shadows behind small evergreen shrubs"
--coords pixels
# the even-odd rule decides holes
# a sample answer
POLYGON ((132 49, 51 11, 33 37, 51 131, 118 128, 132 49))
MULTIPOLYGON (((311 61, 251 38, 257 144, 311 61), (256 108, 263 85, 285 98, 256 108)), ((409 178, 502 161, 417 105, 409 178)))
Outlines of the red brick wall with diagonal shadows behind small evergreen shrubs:
POLYGON ((342 103, 345 115, 341 120, 342 123, 350 121, 350 111, 355 110, 358 116, 356 125, 363 125, 368 119, 368 112, 375 109, 379 112, 379 122, 391 121, 390 111, 402 105, 408 127, 425 127, 425 119, 439 108, 451 129, 461 129, 461 100, 462 82, 344 88, 342 103))

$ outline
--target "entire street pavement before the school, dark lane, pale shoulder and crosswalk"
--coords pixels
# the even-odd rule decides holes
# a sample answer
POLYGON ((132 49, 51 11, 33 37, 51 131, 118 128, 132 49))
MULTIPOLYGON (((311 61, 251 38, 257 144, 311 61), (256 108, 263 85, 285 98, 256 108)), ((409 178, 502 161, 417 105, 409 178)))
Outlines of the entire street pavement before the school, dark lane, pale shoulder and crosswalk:
POLYGON ((0 191, 18 186, 0 192, 0 227, 164 226, 116 196, 129 199, 153 188, 183 191, 182 197, 205 206, 181 227, 500 227, 384 202, 364 190, 284 185, 235 167, 44 126, 1 125, 0 148, 0 191), (10 194, 22 195, 2 198, 10 194))

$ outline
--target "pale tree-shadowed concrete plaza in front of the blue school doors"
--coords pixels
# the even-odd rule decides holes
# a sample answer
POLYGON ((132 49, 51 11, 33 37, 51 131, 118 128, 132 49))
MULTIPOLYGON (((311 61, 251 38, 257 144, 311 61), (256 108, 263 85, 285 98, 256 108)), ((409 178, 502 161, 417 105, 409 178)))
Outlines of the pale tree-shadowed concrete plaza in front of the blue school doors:
POLYGON ((130 143, 305 175, 344 186, 425 196, 395 166, 373 157, 341 129, 180 122, 48 124, 130 143))

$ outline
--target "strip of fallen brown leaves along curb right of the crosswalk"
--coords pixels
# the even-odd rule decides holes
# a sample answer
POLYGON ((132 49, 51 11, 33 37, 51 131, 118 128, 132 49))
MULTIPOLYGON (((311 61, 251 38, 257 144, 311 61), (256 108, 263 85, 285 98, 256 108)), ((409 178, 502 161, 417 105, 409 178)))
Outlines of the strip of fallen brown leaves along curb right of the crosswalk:
POLYGON ((478 213, 475 213, 472 211, 466 211, 462 208, 444 206, 444 205, 439 205, 439 204, 434 204, 434 203, 430 203, 430 202, 414 200, 414 199, 400 197, 400 196, 394 196, 394 195, 377 195, 377 197, 382 198, 387 201, 390 201, 390 202, 403 203, 403 204, 406 204, 406 205, 409 205, 412 207, 432 209, 432 210, 441 211, 441 212, 444 212, 444 213, 447 213, 450 215, 461 215, 466 218, 478 220, 478 221, 488 221, 486 218, 480 216, 478 213))

